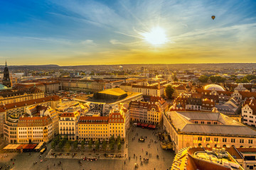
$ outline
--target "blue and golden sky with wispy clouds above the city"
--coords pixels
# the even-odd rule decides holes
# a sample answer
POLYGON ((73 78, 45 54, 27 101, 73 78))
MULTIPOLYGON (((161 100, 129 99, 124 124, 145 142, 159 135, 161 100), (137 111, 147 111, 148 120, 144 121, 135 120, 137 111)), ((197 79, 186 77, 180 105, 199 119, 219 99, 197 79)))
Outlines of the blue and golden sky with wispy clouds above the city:
POLYGON ((255 9, 255 0, 0 1, 0 64, 252 63, 255 9), (145 38, 161 36, 154 28, 161 45, 145 38))

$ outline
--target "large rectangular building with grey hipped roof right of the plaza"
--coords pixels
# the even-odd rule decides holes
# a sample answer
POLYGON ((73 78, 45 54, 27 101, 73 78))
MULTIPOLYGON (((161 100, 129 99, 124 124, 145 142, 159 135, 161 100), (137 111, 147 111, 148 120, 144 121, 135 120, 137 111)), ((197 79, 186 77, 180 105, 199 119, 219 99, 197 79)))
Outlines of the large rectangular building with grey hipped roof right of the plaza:
POLYGON ((222 113, 168 112, 164 130, 174 143, 174 151, 183 147, 253 147, 256 132, 222 113))

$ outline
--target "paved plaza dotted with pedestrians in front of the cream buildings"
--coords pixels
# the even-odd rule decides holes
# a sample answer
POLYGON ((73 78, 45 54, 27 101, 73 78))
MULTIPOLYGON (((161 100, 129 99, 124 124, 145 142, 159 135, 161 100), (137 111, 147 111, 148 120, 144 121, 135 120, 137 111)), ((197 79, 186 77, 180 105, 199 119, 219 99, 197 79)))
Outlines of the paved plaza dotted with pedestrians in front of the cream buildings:
MULTIPOLYGON (((8 157, 0 158, 0 166, 9 164, 10 169, 85 169, 85 170, 97 170, 97 169, 135 169, 134 164, 137 163, 139 167, 137 169, 169 169, 174 159, 174 152, 161 149, 160 142, 153 134, 153 130, 147 130, 142 128, 132 128, 128 137, 128 155, 123 159, 98 159, 94 162, 82 161, 82 165, 78 164, 79 159, 59 159, 59 158, 47 158, 46 161, 40 162, 42 158, 39 158, 39 152, 28 153, 4 153, 8 154, 8 157), (138 135, 137 135, 138 134, 138 135), (145 142, 138 142, 139 137, 146 137, 145 142), (132 140, 135 137, 135 140, 132 140), (149 147, 149 141, 151 142, 149 147), (156 143, 154 141, 157 141, 156 143), (146 154, 148 152, 148 154, 146 154), (135 157, 134 157, 135 154, 135 157), (159 155, 159 158, 156 158, 159 155), (140 156, 149 159, 148 163, 141 164, 140 156), (129 159, 130 157, 130 159, 129 159), (137 159, 136 159, 137 157, 137 159), (10 161, 16 159, 16 161, 10 161), (37 164, 33 165, 37 161, 37 164), (14 165, 13 165, 14 162, 14 165), (58 162, 61 162, 58 165, 58 162), (125 162, 125 164, 124 164, 125 162), (55 164, 55 166, 54 166, 55 164)), ((50 148, 50 144, 48 144, 50 148)), ((48 150, 49 151, 49 150, 48 150)), ((4 156, 2 153, 1 156, 4 156)), ((64 153, 63 153, 64 154, 64 153)), ((87 154, 87 153, 84 153, 87 154)), ((47 153, 43 154, 43 159, 47 153)), ((100 157, 104 157, 101 155, 100 157)))

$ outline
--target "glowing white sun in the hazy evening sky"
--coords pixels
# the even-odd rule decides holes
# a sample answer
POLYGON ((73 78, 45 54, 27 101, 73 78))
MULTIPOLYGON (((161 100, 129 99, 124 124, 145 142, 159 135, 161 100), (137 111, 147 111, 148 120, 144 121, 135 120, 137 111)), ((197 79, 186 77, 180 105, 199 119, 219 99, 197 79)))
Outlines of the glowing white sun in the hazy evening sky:
POLYGON ((152 28, 150 32, 141 33, 144 40, 151 43, 151 45, 163 45, 168 41, 166 38, 165 30, 160 27, 152 28))

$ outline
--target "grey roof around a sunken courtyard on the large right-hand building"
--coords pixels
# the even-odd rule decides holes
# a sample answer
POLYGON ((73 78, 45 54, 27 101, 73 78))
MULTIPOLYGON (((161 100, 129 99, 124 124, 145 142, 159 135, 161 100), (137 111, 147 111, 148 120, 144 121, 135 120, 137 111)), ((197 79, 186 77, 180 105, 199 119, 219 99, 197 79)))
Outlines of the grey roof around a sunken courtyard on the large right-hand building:
POLYGON ((172 125, 177 131, 186 134, 208 134, 208 135, 238 135, 256 137, 256 131, 248 128, 242 123, 238 123, 233 118, 222 113, 213 112, 177 112, 166 113, 172 125), (196 124, 191 120, 215 120, 221 124, 208 125, 196 124))

